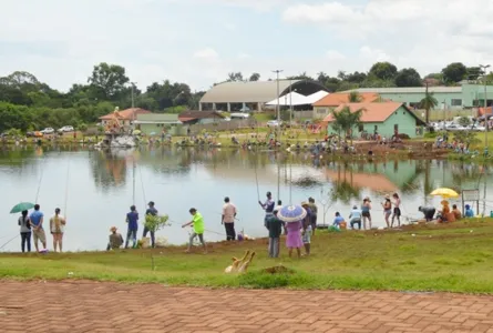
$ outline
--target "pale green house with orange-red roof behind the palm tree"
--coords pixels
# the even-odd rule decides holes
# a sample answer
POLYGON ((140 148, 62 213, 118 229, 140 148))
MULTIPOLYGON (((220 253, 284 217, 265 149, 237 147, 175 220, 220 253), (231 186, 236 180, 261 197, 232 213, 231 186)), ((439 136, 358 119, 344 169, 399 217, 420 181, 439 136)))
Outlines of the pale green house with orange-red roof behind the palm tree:
MULTIPOLYGON (((417 128, 424 124, 404 103, 345 103, 336 108, 333 112, 340 112, 343 108, 349 108, 351 112, 362 110, 361 124, 352 130, 353 137, 359 137, 362 132, 366 132, 390 139, 397 132, 408 134, 409 138, 415 138, 417 128)), ((327 125, 329 134, 338 134, 332 127, 333 115, 331 113, 323 119, 323 123, 327 125)))

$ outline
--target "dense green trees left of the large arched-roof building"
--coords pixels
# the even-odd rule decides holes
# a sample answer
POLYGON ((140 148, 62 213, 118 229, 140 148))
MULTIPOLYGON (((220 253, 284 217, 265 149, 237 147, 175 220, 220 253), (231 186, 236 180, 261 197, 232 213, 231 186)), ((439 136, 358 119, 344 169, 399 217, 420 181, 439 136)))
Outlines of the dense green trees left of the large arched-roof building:
POLYGON ((94 65, 86 84, 73 84, 60 92, 33 74, 16 71, 0 78, 0 132, 9 129, 40 130, 47 127, 85 128, 99 118, 121 110, 143 108, 154 112, 197 109, 204 92, 193 92, 181 82, 153 82, 141 91, 117 64, 94 65))

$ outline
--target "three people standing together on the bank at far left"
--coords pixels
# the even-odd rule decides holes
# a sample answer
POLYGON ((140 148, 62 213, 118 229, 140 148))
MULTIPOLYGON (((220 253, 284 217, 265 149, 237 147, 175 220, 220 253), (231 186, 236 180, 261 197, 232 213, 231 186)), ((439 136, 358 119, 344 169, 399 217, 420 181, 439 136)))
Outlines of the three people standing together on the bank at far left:
MULTIPOLYGON (((66 219, 62 216, 61 210, 58 208, 54 210, 54 214, 50 218, 50 233, 53 236, 53 251, 57 249, 62 252, 63 250, 63 233, 65 231, 66 219)), ((42 250, 47 250, 47 234, 44 232, 44 214, 40 210, 40 205, 34 205, 34 211, 22 211, 19 216, 18 224, 21 234, 21 249, 22 252, 31 252, 31 236, 34 242, 35 251, 39 252, 39 243, 42 244, 42 250)))

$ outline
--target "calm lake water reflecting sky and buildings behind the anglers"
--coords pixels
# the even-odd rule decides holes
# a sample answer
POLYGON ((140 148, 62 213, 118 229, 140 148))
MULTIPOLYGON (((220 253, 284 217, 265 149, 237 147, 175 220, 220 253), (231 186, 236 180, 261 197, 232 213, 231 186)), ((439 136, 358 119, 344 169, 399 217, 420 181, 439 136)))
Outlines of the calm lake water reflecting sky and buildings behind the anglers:
MULTIPOLYGON (((173 223, 158 231, 157 236, 182 244, 188 233, 181 224, 189 220, 191 206, 197 208, 205 218, 207 241, 225 238, 220 225, 225 195, 237 205, 237 231, 244 229, 250 236, 265 236, 257 193, 264 200, 265 193, 271 191, 274 198, 280 196, 285 204, 290 198, 294 203, 300 203, 314 196, 319 206, 319 223, 323 223, 323 204, 326 222, 330 223, 336 211, 348 216, 352 204, 359 205, 362 198, 369 195, 373 201, 373 224, 383 226, 379 203, 386 193, 400 193, 402 213, 415 219, 421 216, 420 205, 439 205, 440 198, 425 195, 434 188, 480 186, 483 198, 485 179, 491 181, 491 169, 448 161, 328 163, 306 152, 276 155, 267 151, 172 148, 112 152, 79 147, 17 148, 0 151, 3 223, 0 246, 19 233, 18 215, 9 214, 10 209, 37 199, 45 216, 51 216, 57 206, 66 215, 64 250, 84 251, 105 249, 112 225, 126 233, 124 220, 132 203, 143 213, 146 202, 154 201, 157 210, 167 213, 173 223), (481 176, 483 172, 485 178, 481 176)), ((490 214, 491 210, 493 192, 486 191, 480 212, 490 214)), ((140 229, 141 234, 142 225, 140 229)), ((51 241, 48 234, 50 249, 51 241)), ((19 249, 20 238, 1 251, 19 249)))

